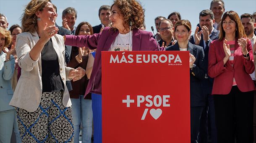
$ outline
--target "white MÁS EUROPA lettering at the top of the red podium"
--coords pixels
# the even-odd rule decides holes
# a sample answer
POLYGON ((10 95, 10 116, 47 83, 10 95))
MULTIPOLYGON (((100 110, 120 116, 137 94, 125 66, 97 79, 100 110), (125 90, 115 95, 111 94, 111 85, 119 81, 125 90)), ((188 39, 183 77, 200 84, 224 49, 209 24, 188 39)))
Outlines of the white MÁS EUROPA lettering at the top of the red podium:
POLYGON ((179 54, 128 54, 110 56, 110 63, 182 63, 179 54))

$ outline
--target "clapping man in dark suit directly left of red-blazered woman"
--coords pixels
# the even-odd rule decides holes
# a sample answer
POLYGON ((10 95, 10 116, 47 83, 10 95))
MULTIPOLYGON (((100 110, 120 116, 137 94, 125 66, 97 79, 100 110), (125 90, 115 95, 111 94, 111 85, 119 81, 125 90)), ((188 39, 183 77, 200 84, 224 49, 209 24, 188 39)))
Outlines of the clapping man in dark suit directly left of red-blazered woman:
MULTIPOLYGON (((199 14, 199 27, 196 28, 195 34, 191 36, 190 42, 204 48, 204 60, 206 73, 208 67, 208 52, 209 45, 213 40, 219 38, 219 31, 214 28, 214 14, 212 10, 202 10, 199 14)), ((205 79, 202 82, 203 93, 206 98, 206 106, 201 116, 200 123, 200 133, 199 133, 199 143, 208 142, 208 121, 209 128, 212 136, 212 143, 217 143, 217 130, 215 126, 215 110, 214 110, 214 100, 212 97, 212 86, 213 79, 205 75, 205 79)))

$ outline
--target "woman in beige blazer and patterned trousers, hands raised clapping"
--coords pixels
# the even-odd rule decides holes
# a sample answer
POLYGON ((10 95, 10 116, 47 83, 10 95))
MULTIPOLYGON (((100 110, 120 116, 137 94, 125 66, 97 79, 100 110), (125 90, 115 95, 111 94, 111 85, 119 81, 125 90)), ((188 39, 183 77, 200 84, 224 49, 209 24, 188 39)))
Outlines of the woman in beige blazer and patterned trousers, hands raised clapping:
POLYGON ((66 67, 63 37, 50 0, 31 0, 16 39, 21 77, 10 105, 16 107, 23 143, 73 142, 71 100, 66 80, 81 79, 84 69, 66 67))

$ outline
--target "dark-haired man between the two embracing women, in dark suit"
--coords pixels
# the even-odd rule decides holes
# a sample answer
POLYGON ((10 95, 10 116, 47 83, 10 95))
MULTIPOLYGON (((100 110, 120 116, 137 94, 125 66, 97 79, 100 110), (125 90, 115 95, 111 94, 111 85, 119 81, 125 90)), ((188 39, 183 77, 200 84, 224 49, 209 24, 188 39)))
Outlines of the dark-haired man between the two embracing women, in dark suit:
POLYGON ((111 12, 109 5, 102 5, 99 8, 99 20, 101 23, 98 26, 92 27, 93 33, 100 33, 104 29, 104 27, 110 26, 110 14, 111 12))

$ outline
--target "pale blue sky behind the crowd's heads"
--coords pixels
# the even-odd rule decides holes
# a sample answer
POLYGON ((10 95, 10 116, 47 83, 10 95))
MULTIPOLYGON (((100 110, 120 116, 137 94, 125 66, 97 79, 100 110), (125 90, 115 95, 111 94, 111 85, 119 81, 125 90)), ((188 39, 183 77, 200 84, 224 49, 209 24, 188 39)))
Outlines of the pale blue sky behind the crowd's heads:
MULTIPOLYGON (((20 23, 20 17, 24 6, 30 0, 0 0, 0 13, 8 18, 9 27, 20 23)), ((141 5, 145 9, 146 30, 151 31, 154 26, 154 18, 159 15, 167 16, 173 11, 178 11, 182 19, 188 19, 192 24, 192 31, 199 23, 199 13, 201 10, 209 9, 211 0, 141 0, 141 5)), ((234 10, 241 15, 243 13, 253 13, 256 11, 256 0, 224 0, 225 9, 234 10)), ((57 24, 62 25, 62 11, 67 7, 76 8, 78 12, 75 26, 82 21, 91 23, 92 26, 100 24, 98 10, 101 5, 112 5, 113 0, 52 0, 57 6, 57 24)), ((155 27, 155 26, 154 26, 155 27)))

